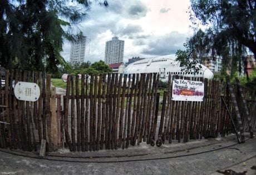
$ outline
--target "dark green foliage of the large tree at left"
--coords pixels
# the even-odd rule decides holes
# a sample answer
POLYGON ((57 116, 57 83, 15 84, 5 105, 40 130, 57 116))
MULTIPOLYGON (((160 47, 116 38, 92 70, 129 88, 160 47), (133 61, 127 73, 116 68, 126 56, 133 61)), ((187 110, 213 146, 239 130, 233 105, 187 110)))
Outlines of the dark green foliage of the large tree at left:
MULTIPOLYGON (((107 6, 107 1, 95 1, 107 6)), ((7 69, 56 73, 68 64, 60 55, 63 39, 87 17, 92 1, 3 0, 0 6, 0 64, 7 69)))

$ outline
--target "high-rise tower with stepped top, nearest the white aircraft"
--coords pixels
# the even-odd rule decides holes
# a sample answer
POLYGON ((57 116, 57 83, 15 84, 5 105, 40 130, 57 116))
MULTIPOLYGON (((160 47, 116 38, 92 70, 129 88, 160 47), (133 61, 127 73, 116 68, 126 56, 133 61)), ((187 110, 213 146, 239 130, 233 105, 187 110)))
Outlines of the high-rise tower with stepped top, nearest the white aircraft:
POLYGON ((105 48, 105 63, 120 63, 124 59, 125 41, 119 40, 118 37, 113 37, 112 40, 106 42, 105 48))

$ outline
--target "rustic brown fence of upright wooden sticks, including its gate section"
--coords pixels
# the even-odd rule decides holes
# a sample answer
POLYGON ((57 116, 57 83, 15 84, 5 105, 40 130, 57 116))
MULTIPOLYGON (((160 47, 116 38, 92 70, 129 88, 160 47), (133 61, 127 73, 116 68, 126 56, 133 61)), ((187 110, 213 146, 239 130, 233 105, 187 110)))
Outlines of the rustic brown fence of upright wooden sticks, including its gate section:
POLYGON ((68 76, 66 95, 61 96, 45 73, 7 70, 1 77, 1 148, 37 151, 42 139, 47 151, 63 144, 71 151, 124 149, 142 141, 160 146, 166 141, 224 137, 239 129, 242 133, 241 126, 252 136, 256 125, 255 91, 242 90, 238 83, 232 92, 230 84, 220 81, 169 75, 167 91, 160 97, 157 74, 82 75, 81 80, 68 76), (173 79, 203 81, 203 101, 173 101, 173 79), (38 101, 14 96, 13 83, 19 81, 38 84, 38 101))

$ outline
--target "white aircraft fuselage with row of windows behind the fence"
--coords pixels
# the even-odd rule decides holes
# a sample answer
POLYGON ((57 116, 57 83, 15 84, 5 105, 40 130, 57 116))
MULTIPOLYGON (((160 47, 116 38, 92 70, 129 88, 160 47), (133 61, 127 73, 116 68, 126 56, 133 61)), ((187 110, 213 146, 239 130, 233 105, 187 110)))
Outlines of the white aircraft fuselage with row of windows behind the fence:
POLYGON ((213 79, 213 72, 206 66, 201 64, 201 69, 196 74, 185 72, 181 71, 180 64, 175 59, 175 55, 164 55, 135 61, 125 68, 124 74, 157 73, 162 81, 168 81, 169 74, 213 79))

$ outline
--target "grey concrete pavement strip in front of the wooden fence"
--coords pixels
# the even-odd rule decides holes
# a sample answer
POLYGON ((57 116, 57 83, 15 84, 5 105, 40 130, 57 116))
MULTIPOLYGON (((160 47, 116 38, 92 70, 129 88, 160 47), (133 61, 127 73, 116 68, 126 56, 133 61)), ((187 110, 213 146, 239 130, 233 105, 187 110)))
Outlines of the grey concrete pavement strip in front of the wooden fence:
POLYGON ((145 143, 122 150, 38 153, 0 150, 0 174, 256 174, 256 138, 145 143), (18 156, 19 155, 19 156, 18 156))

